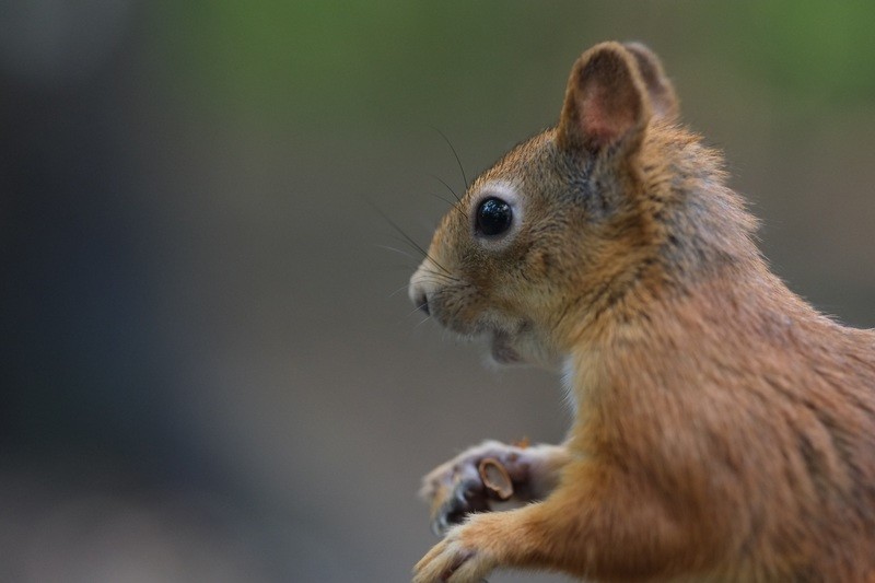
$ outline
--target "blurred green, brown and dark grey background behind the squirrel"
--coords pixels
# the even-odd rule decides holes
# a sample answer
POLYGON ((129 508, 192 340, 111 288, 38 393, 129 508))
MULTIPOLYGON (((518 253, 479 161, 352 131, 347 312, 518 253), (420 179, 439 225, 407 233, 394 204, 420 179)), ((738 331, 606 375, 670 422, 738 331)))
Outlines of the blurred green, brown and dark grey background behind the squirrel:
MULTIPOLYGON (((406 581, 420 476, 561 440, 412 312, 596 42, 663 58, 774 269, 875 326, 875 3, 0 1, 0 580, 406 581)), ((540 576, 538 581, 567 581, 540 576)), ((529 581, 497 574, 490 581, 529 581)))

